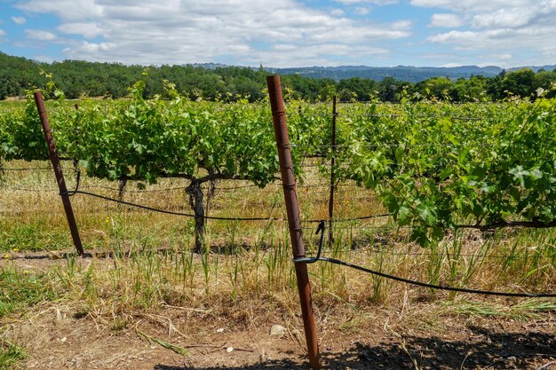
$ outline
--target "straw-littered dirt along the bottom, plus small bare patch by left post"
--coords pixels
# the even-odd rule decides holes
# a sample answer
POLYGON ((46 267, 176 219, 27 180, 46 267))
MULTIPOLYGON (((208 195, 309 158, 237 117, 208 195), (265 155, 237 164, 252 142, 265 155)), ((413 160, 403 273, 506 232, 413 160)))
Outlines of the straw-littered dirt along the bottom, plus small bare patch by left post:
MULTIPOLYGON (((44 254, 13 257, 22 268, 60 264, 44 254)), ((432 320, 431 303, 417 298, 409 297, 411 312, 377 305, 346 316, 315 307, 324 368, 556 369, 553 312, 432 320)), ((28 369, 306 369, 302 321, 294 312, 285 322, 282 313, 238 319, 229 311, 163 306, 119 322, 44 303, 4 322, 2 335, 25 347, 28 369), (273 325, 284 327, 283 335, 270 335, 273 325), (187 355, 177 353, 184 349, 187 355)))

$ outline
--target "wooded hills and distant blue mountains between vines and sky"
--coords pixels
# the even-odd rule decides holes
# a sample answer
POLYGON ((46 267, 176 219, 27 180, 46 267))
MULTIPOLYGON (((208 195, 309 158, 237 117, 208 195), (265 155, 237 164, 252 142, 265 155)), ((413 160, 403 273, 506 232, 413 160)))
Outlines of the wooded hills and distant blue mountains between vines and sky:
MULTIPOLYGON (((234 67, 215 63, 140 66, 64 60, 51 64, 13 57, 0 51, 0 100, 22 97, 29 89, 45 89, 49 79, 67 98, 127 96, 130 86, 144 80, 145 98, 167 93, 171 83, 191 99, 234 101, 265 97, 266 75, 282 75, 293 97, 318 101, 377 97, 397 101, 401 92, 452 101, 499 100, 507 96, 534 97, 552 90, 556 66, 504 71, 500 67, 234 67), (545 72, 540 72, 544 69, 545 72), (145 71, 147 70, 147 75, 145 71)), ((167 98, 167 97, 166 97, 167 98)))

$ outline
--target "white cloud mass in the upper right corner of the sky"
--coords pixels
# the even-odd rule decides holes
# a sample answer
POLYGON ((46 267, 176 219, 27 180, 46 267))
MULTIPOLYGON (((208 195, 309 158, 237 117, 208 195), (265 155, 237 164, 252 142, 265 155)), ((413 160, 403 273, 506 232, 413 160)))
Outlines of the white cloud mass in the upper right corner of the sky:
POLYGON ((515 60, 523 54, 520 49, 538 57, 533 64, 541 63, 543 55, 547 57, 544 62, 554 63, 548 59, 547 45, 556 35, 556 0, 411 0, 411 4, 449 10, 434 14, 429 26, 451 29, 429 36, 429 43, 466 53, 477 51, 485 59, 488 56, 489 63, 525 63, 527 59, 515 60), (455 29, 465 25, 468 28, 455 29))

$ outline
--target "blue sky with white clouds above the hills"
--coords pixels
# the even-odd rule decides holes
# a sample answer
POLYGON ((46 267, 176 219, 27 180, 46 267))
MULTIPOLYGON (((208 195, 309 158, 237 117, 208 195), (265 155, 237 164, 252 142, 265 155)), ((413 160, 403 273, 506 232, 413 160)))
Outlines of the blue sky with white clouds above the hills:
POLYGON ((0 0, 0 51, 258 67, 556 64, 556 0, 0 0))

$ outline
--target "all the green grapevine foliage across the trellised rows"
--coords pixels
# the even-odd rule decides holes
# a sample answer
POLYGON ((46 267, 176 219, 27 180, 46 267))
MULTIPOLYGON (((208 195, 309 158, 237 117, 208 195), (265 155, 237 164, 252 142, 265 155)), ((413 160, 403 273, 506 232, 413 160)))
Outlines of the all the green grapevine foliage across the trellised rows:
MULTIPOLYGON (((442 91, 445 83, 438 81, 442 91)), ((196 186, 247 179, 264 186, 276 177, 267 101, 192 102, 171 83, 164 93, 170 101, 147 100, 145 89, 140 81, 126 100, 54 105, 60 154, 112 180, 185 177, 196 186)), ((423 245, 460 225, 556 220, 556 98, 450 104, 401 96, 398 105, 340 105, 339 180, 374 189, 423 245)), ((29 100, 25 110, 0 115, 4 158, 46 157, 34 109, 29 100)), ((330 156, 330 105, 291 100, 288 110, 295 164, 306 155, 330 156)), ((203 216, 195 206, 203 194, 191 204, 203 216)))

